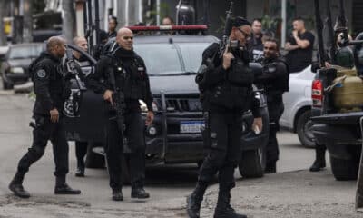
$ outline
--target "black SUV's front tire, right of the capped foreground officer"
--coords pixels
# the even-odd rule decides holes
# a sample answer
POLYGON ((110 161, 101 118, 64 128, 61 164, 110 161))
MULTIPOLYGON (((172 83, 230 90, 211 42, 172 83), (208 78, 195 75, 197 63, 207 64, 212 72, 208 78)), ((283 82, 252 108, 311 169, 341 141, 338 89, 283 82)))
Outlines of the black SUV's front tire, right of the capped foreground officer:
POLYGON ((244 178, 260 178, 265 172, 265 147, 256 150, 243 151, 239 163, 240 175, 244 178))

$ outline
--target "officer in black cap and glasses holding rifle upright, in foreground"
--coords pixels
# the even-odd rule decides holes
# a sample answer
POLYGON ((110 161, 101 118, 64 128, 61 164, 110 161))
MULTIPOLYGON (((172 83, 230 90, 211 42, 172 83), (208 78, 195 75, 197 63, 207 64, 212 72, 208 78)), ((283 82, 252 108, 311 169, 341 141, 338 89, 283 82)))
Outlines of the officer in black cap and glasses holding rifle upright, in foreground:
MULTIPOLYGON (((202 65, 207 70, 196 78, 203 94, 203 110, 208 112, 204 142, 209 146, 208 155, 201 165, 196 188, 187 198, 187 213, 200 217, 201 201, 208 184, 219 173, 220 190, 214 217, 246 217, 231 208, 231 189, 235 186, 234 170, 239 163, 242 114, 250 109, 253 73, 249 67, 246 42, 251 35, 250 22, 242 17, 233 21, 230 41, 238 42, 236 49, 219 54, 219 44, 212 44, 202 54, 202 65), (200 78, 201 76, 202 78, 200 78)), ((252 128, 262 129, 259 103, 252 104, 255 117, 252 128)))

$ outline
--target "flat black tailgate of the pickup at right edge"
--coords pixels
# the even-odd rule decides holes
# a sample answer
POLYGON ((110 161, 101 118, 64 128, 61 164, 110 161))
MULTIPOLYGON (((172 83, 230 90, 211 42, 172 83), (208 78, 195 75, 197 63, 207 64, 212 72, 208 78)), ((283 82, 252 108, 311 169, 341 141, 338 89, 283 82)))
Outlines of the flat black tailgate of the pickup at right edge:
POLYGON ((362 116, 363 112, 349 112, 314 116, 311 120, 317 124, 359 124, 362 116))

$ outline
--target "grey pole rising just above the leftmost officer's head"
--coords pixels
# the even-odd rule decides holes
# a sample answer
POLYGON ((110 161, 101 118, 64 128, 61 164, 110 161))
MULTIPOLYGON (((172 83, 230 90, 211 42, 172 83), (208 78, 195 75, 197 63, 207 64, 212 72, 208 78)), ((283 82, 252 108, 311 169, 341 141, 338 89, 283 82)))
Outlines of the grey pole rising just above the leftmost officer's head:
POLYGON ((75 24, 74 1, 63 0, 62 7, 64 10, 62 35, 64 35, 67 43, 72 43, 72 40, 74 38, 74 24, 75 24))

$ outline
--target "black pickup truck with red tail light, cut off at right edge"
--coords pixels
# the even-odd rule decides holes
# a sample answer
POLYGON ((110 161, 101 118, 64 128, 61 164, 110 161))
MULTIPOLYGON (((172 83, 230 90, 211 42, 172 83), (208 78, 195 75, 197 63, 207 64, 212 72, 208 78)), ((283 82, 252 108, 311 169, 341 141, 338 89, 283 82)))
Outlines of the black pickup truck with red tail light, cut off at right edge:
MULTIPOLYGON (((362 149, 359 119, 362 111, 341 112, 326 88, 337 77, 335 69, 320 69, 312 82, 312 132, 316 143, 329 151, 331 170, 337 180, 355 180, 362 149)), ((363 85, 363 84, 362 84, 363 85)))

